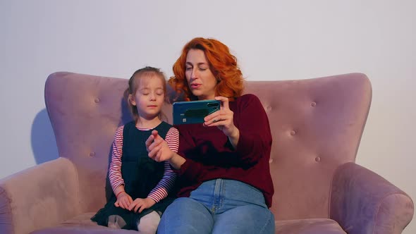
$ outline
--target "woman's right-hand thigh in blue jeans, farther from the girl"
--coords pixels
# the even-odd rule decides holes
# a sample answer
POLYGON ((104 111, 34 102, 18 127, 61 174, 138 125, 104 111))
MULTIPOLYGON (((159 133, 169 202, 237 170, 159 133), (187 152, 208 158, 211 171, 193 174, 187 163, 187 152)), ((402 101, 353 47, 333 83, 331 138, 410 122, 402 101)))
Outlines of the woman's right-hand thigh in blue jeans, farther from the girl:
POLYGON ((269 209, 257 205, 235 207, 215 215, 212 233, 273 234, 274 215, 269 209))

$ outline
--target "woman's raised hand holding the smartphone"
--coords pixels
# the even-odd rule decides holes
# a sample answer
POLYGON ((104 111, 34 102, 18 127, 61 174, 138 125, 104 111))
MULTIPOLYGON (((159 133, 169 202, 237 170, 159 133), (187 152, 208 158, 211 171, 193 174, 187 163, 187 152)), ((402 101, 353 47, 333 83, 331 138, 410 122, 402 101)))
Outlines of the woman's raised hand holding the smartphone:
POLYGON ((238 144, 238 139, 240 138, 240 130, 234 125, 234 113, 228 106, 228 98, 215 97, 215 99, 221 101, 220 110, 206 116, 204 118, 204 125, 207 127, 216 126, 219 128, 228 137, 235 149, 238 144))

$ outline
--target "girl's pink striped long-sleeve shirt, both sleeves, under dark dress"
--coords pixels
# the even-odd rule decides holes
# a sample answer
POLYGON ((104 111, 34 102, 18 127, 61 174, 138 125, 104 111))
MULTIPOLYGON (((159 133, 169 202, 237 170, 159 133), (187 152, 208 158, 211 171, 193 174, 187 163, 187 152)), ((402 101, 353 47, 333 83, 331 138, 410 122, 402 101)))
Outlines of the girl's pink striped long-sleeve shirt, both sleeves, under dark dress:
MULTIPOLYGON (((113 152, 111 155, 111 164, 109 168, 109 179, 113 191, 116 187, 124 185, 124 180, 121 176, 121 157, 123 156, 123 128, 121 126, 117 129, 113 142, 113 152)), ((179 147, 179 132, 176 128, 170 128, 166 134, 165 141, 173 152, 178 152, 179 147)), ((150 191, 147 197, 152 198, 155 202, 164 199, 168 192, 173 187, 176 180, 176 173, 172 171, 169 162, 164 163, 164 176, 159 183, 150 191)))

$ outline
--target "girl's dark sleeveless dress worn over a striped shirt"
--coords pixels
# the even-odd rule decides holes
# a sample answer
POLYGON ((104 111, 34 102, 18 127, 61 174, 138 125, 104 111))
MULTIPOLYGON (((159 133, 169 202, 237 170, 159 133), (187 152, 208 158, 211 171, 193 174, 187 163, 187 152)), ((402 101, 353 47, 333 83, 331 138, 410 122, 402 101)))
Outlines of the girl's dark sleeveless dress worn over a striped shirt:
MULTIPOLYGON (((171 125, 161 122, 155 130, 163 138, 166 137, 171 125)), ((134 200, 137 197, 146 198, 149 192, 156 187, 164 175, 164 162, 156 162, 147 156, 145 141, 151 135, 152 130, 138 130, 134 121, 124 125, 123 129, 123 156, 121 157, 121 176, 124 180, 124 189, 134 200)), ((109 216, 118 215, 126 221, 123 229, 137 230, 137 221, 152 211, 163 213, 166 207, 173 202, 173 197, 166 197, 149 209, 141 213, 128 211, 121 207, 115 207, 116 195, 112 195, 109 202, 95 214, 91 220, 99 225, 107 226, 109 216)))

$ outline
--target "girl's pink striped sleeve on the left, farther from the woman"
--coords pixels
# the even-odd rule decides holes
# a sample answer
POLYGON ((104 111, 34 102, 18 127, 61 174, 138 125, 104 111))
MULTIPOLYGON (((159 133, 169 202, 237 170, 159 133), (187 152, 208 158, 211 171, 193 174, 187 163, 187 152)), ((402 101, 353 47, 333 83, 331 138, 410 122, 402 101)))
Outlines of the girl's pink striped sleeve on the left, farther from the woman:
POLYGON ((113 191, 116 187, 124 185, 124 180, 121 177, 121 156, 123 156, 123 128, 121 126, 117 129, 113 141, 113 152, 111 153, 111 163, 109 168, 109 179, 113 191))

